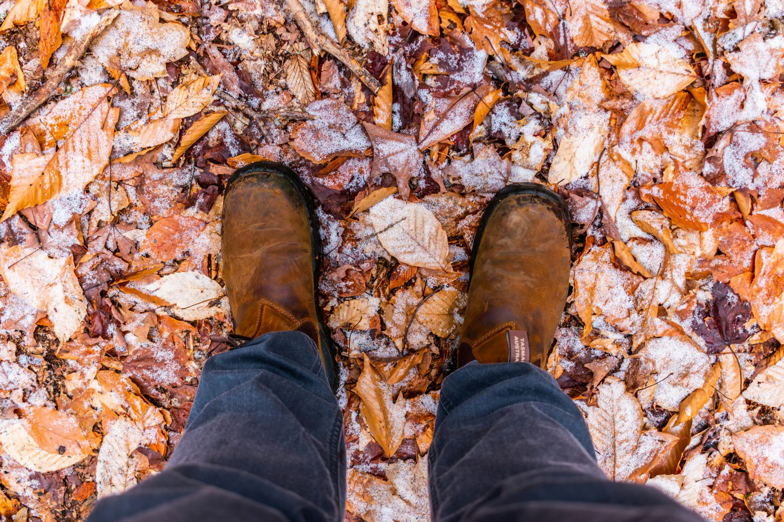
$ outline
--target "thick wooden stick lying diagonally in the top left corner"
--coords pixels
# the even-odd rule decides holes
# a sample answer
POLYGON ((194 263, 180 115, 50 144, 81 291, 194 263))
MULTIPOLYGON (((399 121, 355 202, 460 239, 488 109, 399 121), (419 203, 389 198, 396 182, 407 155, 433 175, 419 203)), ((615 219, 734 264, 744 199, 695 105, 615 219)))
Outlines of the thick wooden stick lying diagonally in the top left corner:
POLYGON ((10 131, 13 131, 13 129, 22 123, 26 117, 30 116, 31 112, 38 109, 42 103, 53 95, 56 88, 62 83, 65 75, 68 74, 68 71, 78 63, 80 58, 82 58, 82 55, 87 51, 87 48, 93 42, 93 39, 96 38, 101 31, 109 27, 109 24, 119 13, 120 10, 116 8, 103 13, 103 16, 101 16, 96 24, 96 27, 93 27, 93 29, 85 34, 81 40, 74 41, 74 43, 71 44, 71 49, 68 49, 68 52, 65 53, 63 59, 60 59, 60 62, 57 63, 52 74, 49 74, 49 77, 46 78, 44 85, 39 87, 32 95, 23 99, 19 105, 13 108, 8 116, 0 121, 0 135, 8 134, 10 131))

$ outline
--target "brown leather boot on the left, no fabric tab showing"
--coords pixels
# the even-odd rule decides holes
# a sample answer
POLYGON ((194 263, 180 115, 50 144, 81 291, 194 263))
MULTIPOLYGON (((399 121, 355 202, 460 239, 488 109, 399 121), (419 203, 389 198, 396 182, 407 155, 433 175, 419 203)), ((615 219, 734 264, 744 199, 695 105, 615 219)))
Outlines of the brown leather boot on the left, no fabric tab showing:
POLYGON ((260 161, 234 172, 223 200, 221 254, 234 333, 249 339, 306 333, 334 389, 335 355, 316 304, 318 219, 310 193, 289 167, 260 161))

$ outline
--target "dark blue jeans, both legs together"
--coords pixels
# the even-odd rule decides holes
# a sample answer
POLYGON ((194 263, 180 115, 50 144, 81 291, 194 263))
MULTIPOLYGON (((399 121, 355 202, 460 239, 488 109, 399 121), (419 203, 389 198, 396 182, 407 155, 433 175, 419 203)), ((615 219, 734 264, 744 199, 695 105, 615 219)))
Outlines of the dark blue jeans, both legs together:
MULTIPOLYGON (((342 419, 313 341, 267 333, 205 363, 165 470, 88 520, 339 522, 342 419)), ((444 380, 428 464, 439 522, 700 520, 653 488, 608 481, 579 409, 528 363, 474 362, 444 380)))

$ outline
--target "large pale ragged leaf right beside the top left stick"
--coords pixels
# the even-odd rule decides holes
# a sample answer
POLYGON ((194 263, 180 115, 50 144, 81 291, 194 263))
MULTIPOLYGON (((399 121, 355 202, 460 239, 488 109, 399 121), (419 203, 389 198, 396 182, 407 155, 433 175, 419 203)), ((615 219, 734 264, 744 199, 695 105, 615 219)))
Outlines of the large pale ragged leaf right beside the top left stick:
POLYGON ((103 67, 139 81, 166 76, 166 62, 187 55, 191 31, 182 23, 161 23, 159 17, 156 5, 137 7, 125 0, 111 26, 90 46, 93 56, 103 67))

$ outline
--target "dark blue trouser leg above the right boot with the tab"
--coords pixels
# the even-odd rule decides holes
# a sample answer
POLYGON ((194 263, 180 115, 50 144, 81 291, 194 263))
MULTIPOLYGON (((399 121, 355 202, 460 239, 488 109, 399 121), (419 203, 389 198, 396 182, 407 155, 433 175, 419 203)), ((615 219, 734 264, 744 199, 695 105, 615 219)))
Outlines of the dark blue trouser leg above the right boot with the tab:
POLYGON ((444 380, 428 464, 434 522, 701 520, 609 481, 577 406, 527 362, 471 362, 444 380))

